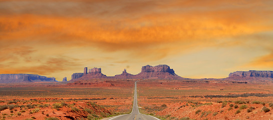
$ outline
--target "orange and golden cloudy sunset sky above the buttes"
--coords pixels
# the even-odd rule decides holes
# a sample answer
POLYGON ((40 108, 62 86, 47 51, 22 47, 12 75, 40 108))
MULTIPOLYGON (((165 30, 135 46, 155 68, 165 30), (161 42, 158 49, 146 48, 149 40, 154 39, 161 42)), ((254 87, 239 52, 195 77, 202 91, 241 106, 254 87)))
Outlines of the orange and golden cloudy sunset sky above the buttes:
POLYGON ((273 70, 273 0, 0 0, 0 73, 273 70))

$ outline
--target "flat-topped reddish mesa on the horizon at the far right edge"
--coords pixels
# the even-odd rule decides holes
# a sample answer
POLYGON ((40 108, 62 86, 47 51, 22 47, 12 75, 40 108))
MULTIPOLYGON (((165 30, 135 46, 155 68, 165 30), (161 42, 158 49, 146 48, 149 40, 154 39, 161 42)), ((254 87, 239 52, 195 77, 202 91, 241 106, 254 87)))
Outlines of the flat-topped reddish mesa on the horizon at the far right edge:
POLYGON ((229 79, 273 79, 273 71, 249 70, 249 71, 235 71, 229 74, 229 79))

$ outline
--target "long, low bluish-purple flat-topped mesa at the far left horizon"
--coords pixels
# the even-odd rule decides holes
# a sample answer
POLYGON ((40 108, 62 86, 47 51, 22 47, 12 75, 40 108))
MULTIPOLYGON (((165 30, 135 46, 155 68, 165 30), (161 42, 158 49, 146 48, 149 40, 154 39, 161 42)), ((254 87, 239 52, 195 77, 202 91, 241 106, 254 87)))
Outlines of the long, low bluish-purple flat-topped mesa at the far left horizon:
POLYGON ((37 74, 0 74, 0 83, 56 81, 54 77, 37 74))

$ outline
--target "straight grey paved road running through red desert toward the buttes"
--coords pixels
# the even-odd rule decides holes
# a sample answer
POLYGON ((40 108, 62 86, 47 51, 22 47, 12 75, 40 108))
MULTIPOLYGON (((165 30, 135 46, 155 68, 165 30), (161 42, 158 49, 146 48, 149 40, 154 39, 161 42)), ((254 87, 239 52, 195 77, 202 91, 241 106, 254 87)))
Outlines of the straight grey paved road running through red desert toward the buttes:
POLYGON ((108 120, 160 120, 159 118, 139 113, 138 105, 137 105, 137 81, 135 82, 135 92, 134 92, 134 103, 133 103, 133 110, 130 114, 122 114, 108 120))

